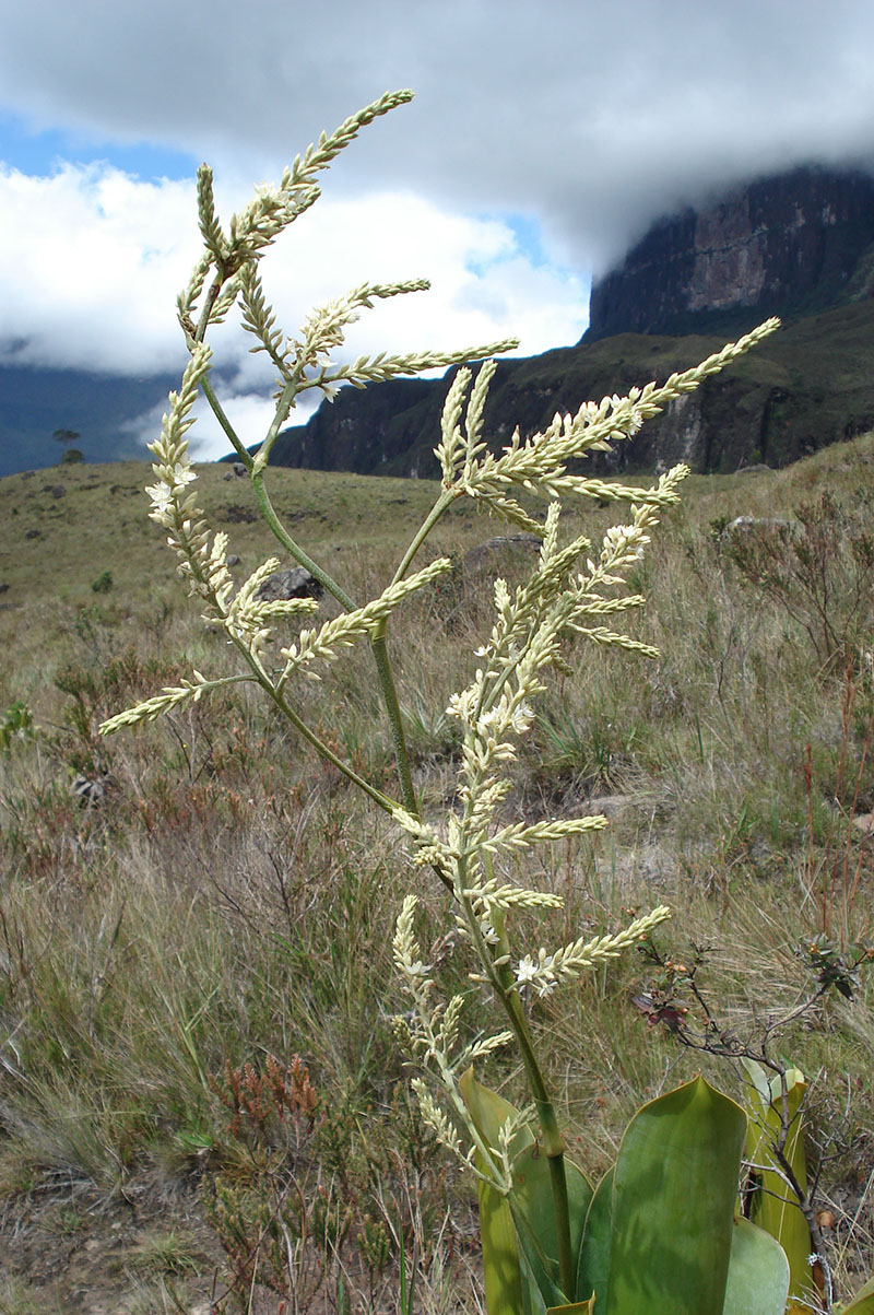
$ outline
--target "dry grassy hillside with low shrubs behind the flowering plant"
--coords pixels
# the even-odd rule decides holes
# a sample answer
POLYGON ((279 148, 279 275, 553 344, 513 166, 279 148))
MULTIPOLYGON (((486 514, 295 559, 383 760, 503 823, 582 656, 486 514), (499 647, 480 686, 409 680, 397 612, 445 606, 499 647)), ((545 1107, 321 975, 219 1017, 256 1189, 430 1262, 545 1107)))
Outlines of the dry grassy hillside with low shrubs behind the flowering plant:
MULTIPOLYGON (((272 551, 248 484, 198 473, 242 580, 272 551)), ((406 1007, 392 926, 421 885, 397 835, 246 692, 97 734, 192 665, 230 660, 175 580, 146 481, 133 463, 0 481, 0 1311, 206 1311, 222 1294, 233 1310, 237 1276, 242 1308, 277 1312, 263 1285, 283 1266, 289 1311, 390 1311, 401 1245, 418 1308, 474 1311, 471 1186, 413 1112, 390 1024, 406 1007), (76 777, 99 782, 92 801, 76 777), (271 1056, 301 1057, 314 1106, 298 1068, 280 1116, 271 1056), (250 1114, 235 1126, 231 1107, 250 1114)), ((290 469, 272 488, 354 594, 386 580, 434 497, 427 481, 290 469)), ((703 997, 753 1047, 816 990, 803 947, 821 935, 846 963, 873 936, 874 842, 858 825, 874 811, 873 513, 874 435, 779 472, 690 479, 633 581, 649 600, 637 633, 661 659, 569 651, 509 801, 528 818, 611 819, 597 843, 538 860, 536 881, 565 898, 539 940, 670 903, 662 960, 699 957, 703 997), (737 515, 791 523, 725 535, 737 515)), ((610 523, 607 508, 585 522, 593 537, 610 523)), ((443 709, 489 625, 493 575, 464 554, 498 533, 464 509, 443 522, 431 548, 457 568, 390 633, 426 806, 452 801, 443 709)), ((513 576, 524 551, 497 567, 513 576)), ((302 692, 304 714, 389 782, 368 654, 336 673, 302 692)), ((463 982, 440 892, 422 893, 431 957, 463 982)), ((844 1295, 874 1256, 874 973, 857 977, 778 1047, 812 1082, 810 1155, 844 1295)), ((731 1061, 632 1003, 669 978, 631 956, 536 1006, 591 1176, 633 1109, 683 1076, 741 1090, 731 1061)), ((472 998, 472 1026, 485 1009, 472 998)), ((506 1064, 489 1077, 517 1090, 506 1064)))

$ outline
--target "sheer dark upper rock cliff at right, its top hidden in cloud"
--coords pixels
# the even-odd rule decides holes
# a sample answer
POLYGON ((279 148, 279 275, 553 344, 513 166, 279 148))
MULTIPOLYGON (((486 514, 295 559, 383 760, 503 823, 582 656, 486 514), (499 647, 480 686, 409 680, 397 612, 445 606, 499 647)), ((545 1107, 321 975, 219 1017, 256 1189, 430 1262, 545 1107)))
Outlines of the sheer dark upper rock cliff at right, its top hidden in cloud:
POLYGON ((585 341, 728 331, 867 291, 874 179, 803 168, 662 220, 591 289, 585 341), (854 276, 856 280, 854 280, 854 276))

